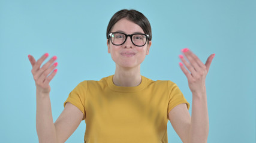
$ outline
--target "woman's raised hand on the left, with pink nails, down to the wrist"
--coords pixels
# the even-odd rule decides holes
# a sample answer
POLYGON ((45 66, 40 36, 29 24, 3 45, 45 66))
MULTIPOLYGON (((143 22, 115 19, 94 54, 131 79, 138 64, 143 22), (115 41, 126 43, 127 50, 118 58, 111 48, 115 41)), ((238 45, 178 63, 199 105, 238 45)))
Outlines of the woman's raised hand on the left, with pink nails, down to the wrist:
POLYGON ((32 55, 28 55, 29 61, 32 66, 31 72, 35 80, 35 86, 37 86, 37 92, 41 94, 50 93, 49 83, 57 73, 57 69, 55 69, 55 67, 58 65, 58 63, 56 62, 52 64, 57 59, 56 56, 53 56, 49 61, 47 61, 47 63, 45 63, 41 67, 41 64, 43 63, 44 60, 46 60, 48 56, 49 54, 46 53, 40 59, 35 61, 35 58, 32 55))

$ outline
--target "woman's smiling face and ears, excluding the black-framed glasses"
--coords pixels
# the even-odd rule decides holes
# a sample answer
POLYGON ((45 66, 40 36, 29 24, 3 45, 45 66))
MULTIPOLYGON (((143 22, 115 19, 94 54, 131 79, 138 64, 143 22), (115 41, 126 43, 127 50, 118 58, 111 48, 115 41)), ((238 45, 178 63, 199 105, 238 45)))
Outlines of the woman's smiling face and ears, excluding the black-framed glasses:
MULTIPOLYGON (((122 18, 113 27, 112 32, 121 32, 128 35, 134 33, 144 33, 140 26, 132 21, 122 18)), ((110 39, 109 39, 110 40, 110 39)), ((111 54, 113 61, 117 66, 121 67, 137 67, 140 66, 146 55, 149 54, 151 41, 144 46, 135 46, 131 42, 131 38, 127 37, 124 44, 116 46, 107 41, 108 52, 111 54)))

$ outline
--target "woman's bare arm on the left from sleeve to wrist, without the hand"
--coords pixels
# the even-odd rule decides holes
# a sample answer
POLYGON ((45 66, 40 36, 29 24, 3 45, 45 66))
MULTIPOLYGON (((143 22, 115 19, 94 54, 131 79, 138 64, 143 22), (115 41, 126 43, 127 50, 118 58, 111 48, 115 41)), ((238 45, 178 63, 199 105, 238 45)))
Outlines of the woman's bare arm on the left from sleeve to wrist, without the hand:
POLYGON ((37 96, 36 126, 39 142, 65 142, 77 129, 83 119, 83 113, 67 102, 61 115, 53 123, 49 95, 37 96))

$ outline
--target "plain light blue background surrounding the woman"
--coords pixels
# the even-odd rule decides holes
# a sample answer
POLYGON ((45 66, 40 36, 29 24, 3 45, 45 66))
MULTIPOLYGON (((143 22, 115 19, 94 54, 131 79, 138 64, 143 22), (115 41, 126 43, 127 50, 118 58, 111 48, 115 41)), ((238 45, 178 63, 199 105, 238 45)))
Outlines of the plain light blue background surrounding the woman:
MULTIPOLYGON (((179 67, 180 49, 191 49, 203 63, 215 53, 206 78, 208 142, 255 142, 255 7, 249 0, 0 1, 1 142, 38 142, 28 54, 58 57, 58 73, 50 83, 55 121, 79 82, 115 73, 106 29, 124 8, 141 11, 152 26, 141 74, 177 83, 192 104, 179 67)), ((181 142, 170 122, 167 126, 168 142, 181 142)), ((83 121, 67 142, 83 142, 85 128, 83 121)))

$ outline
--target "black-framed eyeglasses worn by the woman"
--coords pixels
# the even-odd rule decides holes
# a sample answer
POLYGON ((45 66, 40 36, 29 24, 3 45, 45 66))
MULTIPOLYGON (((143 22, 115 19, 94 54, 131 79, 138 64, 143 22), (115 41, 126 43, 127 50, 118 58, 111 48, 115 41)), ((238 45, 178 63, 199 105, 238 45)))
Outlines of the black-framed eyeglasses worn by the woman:
POLYGON ((147 42, 147 39, 149 39, 149 35, 145 35, 143 33, 136 33, 132 35, 119 32, 109 33, 110 41, 113 43, 113 45, 116 46, 124 44, 125 41, 127 41, 128 36, 131 38, 131 42, 135 46, 144 46, 147 42))

